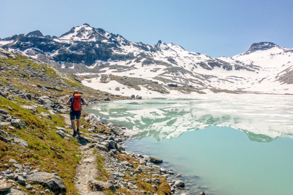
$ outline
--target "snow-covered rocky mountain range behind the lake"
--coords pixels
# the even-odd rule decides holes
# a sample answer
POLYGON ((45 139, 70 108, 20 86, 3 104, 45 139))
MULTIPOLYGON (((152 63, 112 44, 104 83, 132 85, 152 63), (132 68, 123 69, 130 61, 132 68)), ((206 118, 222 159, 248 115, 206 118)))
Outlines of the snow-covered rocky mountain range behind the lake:
POLYGON ((1 39, 0 47, 83 76, 84 85, 116 94, 293 94, 293 49, 272 42, 253 43, 232 58, 211 58, 161 40, 154 45, 131 42, 84 24, 59 38, 40 31, 13 35, 1 39))

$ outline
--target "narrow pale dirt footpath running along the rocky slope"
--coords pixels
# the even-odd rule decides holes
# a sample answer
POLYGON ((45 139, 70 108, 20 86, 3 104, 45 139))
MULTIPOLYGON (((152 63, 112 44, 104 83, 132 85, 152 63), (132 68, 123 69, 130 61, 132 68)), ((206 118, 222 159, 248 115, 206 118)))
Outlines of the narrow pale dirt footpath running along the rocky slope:
MULTIPOLYGON (((71 125, 69 115, 62 115, 65 118, 66 127, 71 125)), ((83 158, 80 160, 75 173, 75 188, 80 195, 105 195, 104 192, 92 192, 89 188, 88 181, 98 176, 97 157, 93 154, 93 149, 86 150, 89 144, 79 147, 83 158)))

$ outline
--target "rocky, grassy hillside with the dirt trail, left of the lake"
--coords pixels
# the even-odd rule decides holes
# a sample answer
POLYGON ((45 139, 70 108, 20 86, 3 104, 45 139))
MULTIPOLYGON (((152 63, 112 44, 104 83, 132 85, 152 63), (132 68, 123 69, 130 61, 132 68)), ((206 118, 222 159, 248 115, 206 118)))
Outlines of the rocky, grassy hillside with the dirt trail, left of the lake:
POLYGON ((72 91, 87 105, 133 98, 84 87, 35 59, 2 50, 0 58, 0 195, 184 192, 179 175, 156 165, 161 159, 125 152, 124 128, 83 113, 81 135, 71 136, 72 91))

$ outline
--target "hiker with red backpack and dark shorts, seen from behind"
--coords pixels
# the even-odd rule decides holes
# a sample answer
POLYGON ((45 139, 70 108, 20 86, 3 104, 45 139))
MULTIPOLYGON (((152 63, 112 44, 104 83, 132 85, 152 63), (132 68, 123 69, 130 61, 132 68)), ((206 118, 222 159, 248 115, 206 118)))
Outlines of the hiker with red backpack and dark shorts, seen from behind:
POLYGON ((86 101, 84 98, 79 94, 77 90, 73 92, 73 96, 71 96, 68 101, 66 102, 67 105, 70 105, 70 120, 71 120, 71 127, 73 129, 73 137, 80 134, 79 126, 81 124, 80 118, 82 115, 82 105, 86 105, 86 101), (76 126, 74 124, 76 118, 76 126))

